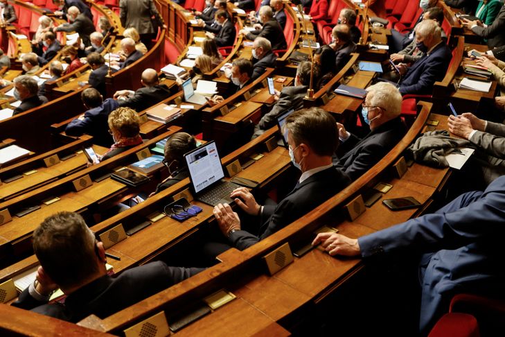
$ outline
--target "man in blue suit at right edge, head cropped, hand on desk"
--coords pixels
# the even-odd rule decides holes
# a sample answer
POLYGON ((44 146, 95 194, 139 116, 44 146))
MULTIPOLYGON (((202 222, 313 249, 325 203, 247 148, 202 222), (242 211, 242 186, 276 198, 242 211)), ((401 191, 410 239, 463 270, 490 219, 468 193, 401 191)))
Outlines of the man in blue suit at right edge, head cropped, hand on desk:
POLYGON ((427 334, 448 311, 456 293, 504 294, 505 176, 485 191, 463 193, 434 214, 359 239, 318 234, 330 255, 371 257, 418 252, 421 284, 420 331, 427 334))

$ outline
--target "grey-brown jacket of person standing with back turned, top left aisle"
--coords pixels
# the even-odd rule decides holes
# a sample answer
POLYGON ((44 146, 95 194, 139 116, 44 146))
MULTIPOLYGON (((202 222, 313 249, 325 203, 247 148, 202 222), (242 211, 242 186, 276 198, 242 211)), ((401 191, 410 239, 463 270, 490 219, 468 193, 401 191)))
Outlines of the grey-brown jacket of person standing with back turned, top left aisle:
POLYGON ((163 22, 152 0, 120 0, 119 9, 119 19, 123 27, 134 27, 139 34, 155 33, 151 15, 154 15, 159 23, 163 22))

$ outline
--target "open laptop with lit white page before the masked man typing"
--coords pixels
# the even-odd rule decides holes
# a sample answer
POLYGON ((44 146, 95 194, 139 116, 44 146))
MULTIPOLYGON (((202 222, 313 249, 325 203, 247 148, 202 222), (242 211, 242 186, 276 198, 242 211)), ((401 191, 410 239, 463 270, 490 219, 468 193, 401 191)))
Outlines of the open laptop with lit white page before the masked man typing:
POLYGON ((232 202, 230 193, 240 185, 222 180, 224 171, 215 141, 195 148, 186 153, 184 158, 196 200, 212 206, 232 202))

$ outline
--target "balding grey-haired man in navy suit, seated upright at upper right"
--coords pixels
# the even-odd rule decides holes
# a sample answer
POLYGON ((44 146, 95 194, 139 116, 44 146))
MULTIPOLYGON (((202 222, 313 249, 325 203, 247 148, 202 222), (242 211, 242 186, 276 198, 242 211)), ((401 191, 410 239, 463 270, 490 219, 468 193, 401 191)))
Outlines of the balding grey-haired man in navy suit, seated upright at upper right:
POLYGON ((416 26, 417 48, 425 53, 411 67, 398 64, 400 93, 431 94, 437 80, 442 80, 452 58, 451 51, 442 41, 441 28, 433 20, 423 20, 416 26))

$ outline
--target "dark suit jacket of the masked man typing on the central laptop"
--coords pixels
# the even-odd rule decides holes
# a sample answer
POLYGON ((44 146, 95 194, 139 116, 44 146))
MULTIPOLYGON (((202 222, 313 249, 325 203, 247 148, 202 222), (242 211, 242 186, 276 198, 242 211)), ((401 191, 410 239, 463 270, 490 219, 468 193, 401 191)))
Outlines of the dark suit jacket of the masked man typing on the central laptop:
POLYGON ((238 230, 229 236, 229 243, 239 250, 245 250, 312 211, 350 183, 348 176, 335 167, 315 173, 296 184, 293 191, 278 205, 263 207, 262 225, 256 235, 245 230, 238 230))

